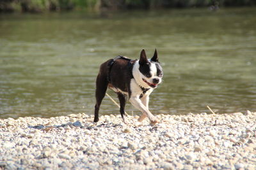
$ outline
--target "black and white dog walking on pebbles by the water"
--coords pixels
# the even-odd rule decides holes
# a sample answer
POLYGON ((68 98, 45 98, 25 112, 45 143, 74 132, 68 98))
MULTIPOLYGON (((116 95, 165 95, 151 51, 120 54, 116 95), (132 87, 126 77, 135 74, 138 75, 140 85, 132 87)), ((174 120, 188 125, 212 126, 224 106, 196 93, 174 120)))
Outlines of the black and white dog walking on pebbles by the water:
POLYGON ((99 121, 99 108, 106 90, 114 90, 120 101, 120 113, 125 121, 125 103, 127 96, 135 108, 142 112, 139 122, 148 117, 152 124, 158 122, 157 118, 148 110, 149 95, 161 83, 163 77, 162 67, 158 62, 157 51, 154 56, 147 59, 145 50, 140 53, 140 60, 131 60, 127 57, 117 56, 100 66, 96 80, 96 104, 94 122, 99 121))

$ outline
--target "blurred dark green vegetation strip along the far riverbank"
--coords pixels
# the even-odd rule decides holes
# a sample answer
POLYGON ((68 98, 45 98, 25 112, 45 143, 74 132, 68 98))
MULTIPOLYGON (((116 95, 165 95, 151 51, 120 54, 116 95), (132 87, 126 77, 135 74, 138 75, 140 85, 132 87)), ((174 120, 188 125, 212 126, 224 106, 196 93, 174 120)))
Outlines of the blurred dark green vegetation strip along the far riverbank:
POLYGON ((255 0, 1 0, 0 12, 252 6, 255 0))

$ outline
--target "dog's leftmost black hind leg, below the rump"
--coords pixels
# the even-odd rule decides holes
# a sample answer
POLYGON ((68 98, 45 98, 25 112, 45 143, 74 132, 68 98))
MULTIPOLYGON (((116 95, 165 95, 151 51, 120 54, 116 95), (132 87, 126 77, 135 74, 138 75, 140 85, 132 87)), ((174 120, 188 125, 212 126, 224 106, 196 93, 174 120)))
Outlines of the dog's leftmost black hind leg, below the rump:
POLYGON ((96 104, 95 104, 93 122, 98 122, 99 121, 100 104, 101 104, 102 99, 104 98, 104 96, 106 94, 107 89, 108 89, 107 77, 99 73, 98 76, 97 76, 97 80, 96 80, 96 91, 95 91, 96 104))

